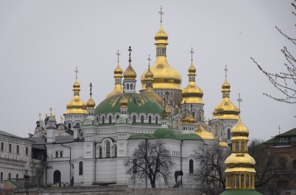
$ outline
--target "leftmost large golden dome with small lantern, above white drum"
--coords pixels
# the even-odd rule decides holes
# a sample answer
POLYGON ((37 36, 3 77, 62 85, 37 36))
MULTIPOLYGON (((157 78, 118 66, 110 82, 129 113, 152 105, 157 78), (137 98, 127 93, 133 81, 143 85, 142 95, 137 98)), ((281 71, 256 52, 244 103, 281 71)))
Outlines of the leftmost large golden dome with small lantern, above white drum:
POLYGON ((67 111, 64 114, 87 114, 87 106, 79 97, 80 84, 76 82, 73 84, 74 97, 67 104, 67 111))

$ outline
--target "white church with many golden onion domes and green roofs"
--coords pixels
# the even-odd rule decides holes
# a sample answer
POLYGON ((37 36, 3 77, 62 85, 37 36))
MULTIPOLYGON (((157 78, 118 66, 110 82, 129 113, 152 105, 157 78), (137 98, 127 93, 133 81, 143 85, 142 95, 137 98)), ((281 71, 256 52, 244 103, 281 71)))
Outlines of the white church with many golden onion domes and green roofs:
MULTIPOLYGON (((92 94, 90 83, 87 103, 79 96, 76 67, 74 97, 67 103, 61 123, 50 109, 50 115, 44 121, 40 117, 35 132, 29 134, 28 139, 34 141, 33 156, 40 161, 40 168, 30 174, 38 182, 128 183, 125 159, 130 158, 141 141, 162 139, 176 163, 173 177, 181 180, 183 175, 183 184, 192 183, 186 175, 193 173, 200 164, 193 157, 193 149, 213 142, 229 147, 230 130, 239 121, 239 108, 230 100, 227 77, 221 80, 222 101, 219 103, 217 99, 215 108, 207 108, 213 109, 213 113, 212 119, 206 119, 203 91, 195 83, 193 59, 188 65, 188 85, 181 89, 182 76, 167 61, 168 35, 163 30, 162 20, 154 38, 156 59, 141 73, 140 83, 132 67, 130 46, 125 71, 119 59, 117 65, 114 64, 114 90, 110 94, 92 94), (139 92, 136 85, 141 86, 139 92), (106 98, 96 106, 93 95, 106 98), (182 174, 175 174, 180 171, 182 174)), ((194 52, 191 50, 191 53, 194 52)))

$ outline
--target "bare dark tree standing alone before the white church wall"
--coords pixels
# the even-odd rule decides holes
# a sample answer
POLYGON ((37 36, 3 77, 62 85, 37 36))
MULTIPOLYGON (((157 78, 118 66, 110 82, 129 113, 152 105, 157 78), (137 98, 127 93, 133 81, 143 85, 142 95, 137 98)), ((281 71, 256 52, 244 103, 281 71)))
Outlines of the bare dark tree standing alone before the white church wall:
POLYGON ((176 166, 170 150, 162 140, 144 140, 133 150, 129 160, 124 162, 128 169, 126 173, 130 175, 130 181, 147 182, 150 180, 152 187, 156 181, 163 179, 167 184, 172 175, 172 168, 176 166))

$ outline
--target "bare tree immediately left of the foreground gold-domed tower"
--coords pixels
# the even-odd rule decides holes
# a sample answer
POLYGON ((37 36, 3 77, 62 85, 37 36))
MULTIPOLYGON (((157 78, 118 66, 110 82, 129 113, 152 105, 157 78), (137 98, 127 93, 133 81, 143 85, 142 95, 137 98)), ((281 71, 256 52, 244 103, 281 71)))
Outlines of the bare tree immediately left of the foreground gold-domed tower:
POLYGON ((190 177, 212 194, 215 194, 215 188, 226 188, 224 161, 230 154, 231 149, 219 146, 218 142, 194 150, 194 157, 200 159, 200 167, 190 177))

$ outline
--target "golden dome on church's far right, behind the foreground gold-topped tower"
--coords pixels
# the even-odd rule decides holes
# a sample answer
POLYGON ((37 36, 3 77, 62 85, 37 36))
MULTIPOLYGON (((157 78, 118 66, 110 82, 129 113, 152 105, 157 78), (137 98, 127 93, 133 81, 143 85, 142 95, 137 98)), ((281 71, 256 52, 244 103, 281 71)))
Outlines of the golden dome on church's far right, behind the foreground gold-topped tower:
POLYGON ((225 78, 225 82, 222 85, 222 101, 215 107, 217 110, 216 118, 220 114, 219 119, 239 119, 239 108, 234 105, 229 98, 230 85, 225 78))

